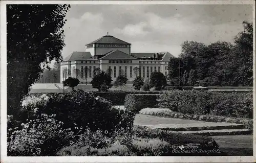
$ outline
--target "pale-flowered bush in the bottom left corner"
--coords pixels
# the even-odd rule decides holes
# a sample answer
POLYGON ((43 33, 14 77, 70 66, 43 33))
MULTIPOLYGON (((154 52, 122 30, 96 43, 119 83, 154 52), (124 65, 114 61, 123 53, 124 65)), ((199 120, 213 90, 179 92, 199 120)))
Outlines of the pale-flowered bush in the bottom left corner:
POLYGON ((8 129, 9 156, 53 156, 74 138, 74 132, 64 129, 54 114, 37 115, 20 126, 8 129))

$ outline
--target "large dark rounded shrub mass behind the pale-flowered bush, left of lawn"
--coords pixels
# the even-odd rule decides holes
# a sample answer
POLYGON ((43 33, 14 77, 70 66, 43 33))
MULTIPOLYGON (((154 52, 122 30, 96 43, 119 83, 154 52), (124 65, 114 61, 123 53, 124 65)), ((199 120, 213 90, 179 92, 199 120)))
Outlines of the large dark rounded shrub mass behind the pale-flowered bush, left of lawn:
POLYGON ((112 132, 116 128, 133 126, 134 113, 114 108, 109 101, 81 90, 34 99, 37 101, 33 104, 24 101, 25 118, 33 116, 33 110, 38 108, 40 113, 56 114, 56 119, 65 122, 66 128, 75 123, 83 128, 88 126, 93 131, 112 132))

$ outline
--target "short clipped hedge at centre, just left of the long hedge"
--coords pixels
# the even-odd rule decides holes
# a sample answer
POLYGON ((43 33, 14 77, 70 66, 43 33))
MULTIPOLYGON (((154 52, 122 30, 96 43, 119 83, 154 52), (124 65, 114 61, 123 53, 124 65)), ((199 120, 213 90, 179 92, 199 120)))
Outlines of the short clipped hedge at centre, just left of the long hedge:
POLYGON ((158 94, 142 95, 142 94, 129 94, 125 97, 124 107, 133 112, 139 112, 146 107, 155 107, 158 94))

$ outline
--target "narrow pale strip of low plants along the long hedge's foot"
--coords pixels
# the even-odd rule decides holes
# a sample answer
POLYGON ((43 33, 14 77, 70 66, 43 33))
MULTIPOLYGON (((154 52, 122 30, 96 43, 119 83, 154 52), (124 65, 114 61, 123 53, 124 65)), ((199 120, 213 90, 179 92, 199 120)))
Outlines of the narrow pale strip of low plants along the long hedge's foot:
POLYGON ((196 114, 184 114, 180 112, 139 112, 140 114, 147 115, 156 115, 158 117, 165 118, 180 118, 180 119, 189 119, 196 121, 205 121, 205 122, 227 122, 227 123, 236 123, 244 125, 244 128, 252 130, 253 120, 245 118, 233 118, 233 117, 222 117, 217 115, 196 115, 196 114))

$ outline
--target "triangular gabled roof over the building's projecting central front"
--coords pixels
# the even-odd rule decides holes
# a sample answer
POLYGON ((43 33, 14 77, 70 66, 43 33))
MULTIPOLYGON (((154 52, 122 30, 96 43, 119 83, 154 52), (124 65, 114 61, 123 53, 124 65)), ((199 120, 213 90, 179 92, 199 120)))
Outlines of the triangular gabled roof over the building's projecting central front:
POLYGON ((130 56, 129 54, 126 54, 119 50, 110 51, 104 57, 101 57, 99 59, 133 59, 133 60, 137 60, 137 58, 130 56))

